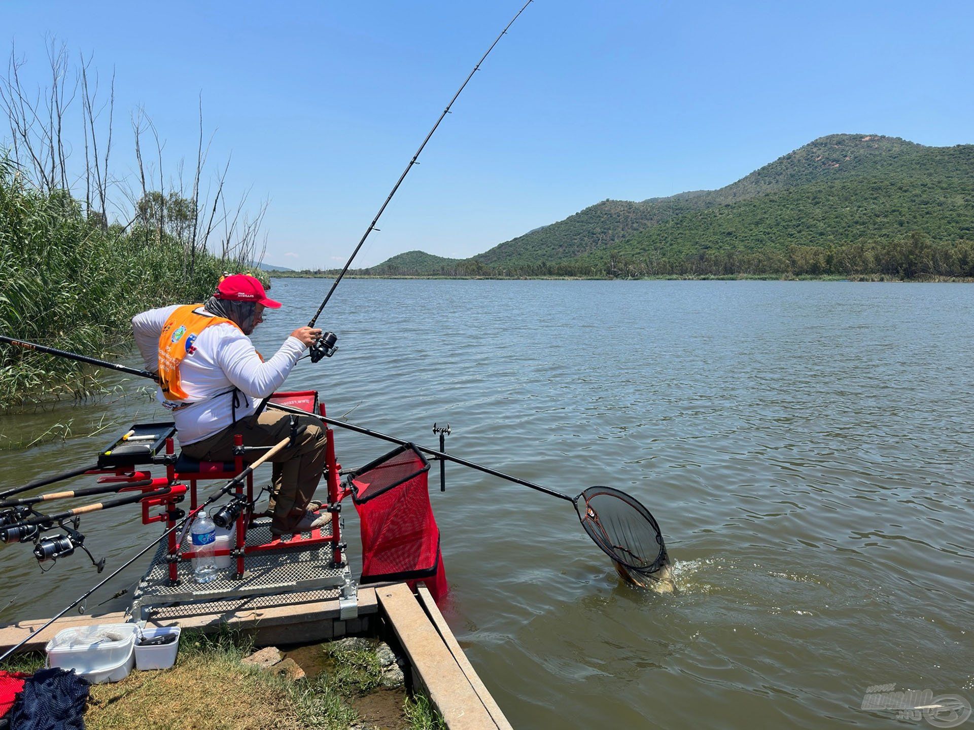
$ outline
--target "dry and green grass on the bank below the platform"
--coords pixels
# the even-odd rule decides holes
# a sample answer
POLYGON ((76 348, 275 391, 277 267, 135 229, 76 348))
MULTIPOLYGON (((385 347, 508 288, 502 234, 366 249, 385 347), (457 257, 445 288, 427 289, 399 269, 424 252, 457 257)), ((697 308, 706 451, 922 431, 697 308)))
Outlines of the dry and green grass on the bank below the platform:
MULTIPOLYGON (((132 672, 114 684, 92 685, 85 726, 89 730, 348 730, 357 719, 350 700, 380 684, 381 667, 371 649, 325 644, 328 671, 290 681, 241 664, 252 650, 248 637, 225 629, 206 636, 184 632, 171 670, 132 672)), ((18 654, 2 668, 33 673, 40 653, 18 654)), ((403 713, 411 730, 444 730, 423 696, 407 698, 403 713)))

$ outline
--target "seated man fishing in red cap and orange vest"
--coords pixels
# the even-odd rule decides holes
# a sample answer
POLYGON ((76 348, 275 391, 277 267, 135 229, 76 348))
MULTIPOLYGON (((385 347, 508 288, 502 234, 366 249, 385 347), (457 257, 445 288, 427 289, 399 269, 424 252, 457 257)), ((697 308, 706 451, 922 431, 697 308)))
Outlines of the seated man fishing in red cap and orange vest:
MULTIPOLYGON (((157 399, 172 412, 183 454, 206 461, 234 458, 234 436, 244 446, 273 446, 290 430, 287 414, 262 412, 256 401, 279 387, 321 330, 299 327, 264 360, 248 335, 263 321, 265 308, 281 307, 269 299, 253 276, 233 274, 220 280, 203 305, 174 305, 132 317, 132 330, 145 368, 159 374, 157 399)), ((298 417, 297 444, 274 461, 271 532, 293 534, 325 525, 311 498, 324 464, 325 433, 318 420, 298 417)))

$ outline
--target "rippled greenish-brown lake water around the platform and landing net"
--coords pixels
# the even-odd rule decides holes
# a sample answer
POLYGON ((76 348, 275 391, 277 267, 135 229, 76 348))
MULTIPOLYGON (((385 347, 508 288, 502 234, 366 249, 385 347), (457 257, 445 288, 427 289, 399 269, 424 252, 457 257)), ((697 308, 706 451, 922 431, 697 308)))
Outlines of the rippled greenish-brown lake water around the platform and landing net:
MULTIPOLYGON (((258 348, 328 285, 276 279, 258 348)), ((446 493, 431 478, 444 615, 515 727, 887 727, 860 709, 871 685, 974 700, 972 323, 964 285, 348 280, 320 320, 339 352, 288 386, 430 446, 449 421, 458 456, 656 516, 671 596, 620 584, 566 502, 454 464, 446 493)), ((0 417, 8 438, 78 434, 0 454, 0 489, 163 416, 143 385, 0 417)), ((346 467, 388 451, 341 431, 336 448, 346 467)), ((158 534, 136 523, 85 521, 109 568, 158 534)), ((0 549, 0 621, 51 615, 94 583, 86 561, 41 577, 0 549)))

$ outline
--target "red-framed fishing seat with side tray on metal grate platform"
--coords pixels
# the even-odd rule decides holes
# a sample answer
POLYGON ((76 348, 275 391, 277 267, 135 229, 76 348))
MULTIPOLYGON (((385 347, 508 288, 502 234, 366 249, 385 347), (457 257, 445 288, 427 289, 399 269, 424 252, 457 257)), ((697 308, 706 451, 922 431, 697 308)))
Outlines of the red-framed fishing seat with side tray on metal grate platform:
MULTIPOLYGON (((324 405, 318 403, 318 392, 314 390, 275 393, 269 402, 325 415, 324 405)), ((285 418, 292 419, 292 431, 295 430, 294 417, 285 418)), ((180 487, 142 501, 142 522, 162 522, 168 534, 133 591, 132 619, 227 613, 246 602, 259 600, 267 607, 292 603, 296 597, 318 601, 332 594, 341 603, 342 618, 355 618, 356 582, 345 557, 340 515, 341 499, 348 492, 340 484, 341 466, 335 459, 331 429, 326 429, 323 472, 327 502, 321 506, 331 513, 331 519, 321 528, 285 536, 272 534, 271 519, 255 512, 260 494, 255 494, 253 474, 247 471, 244 457, 248 451, 263 453, 266 449, 248 449, 242 437, 237 436, 233 460, 200 461, 185 454, 176 456, 174 435, 175 429, 168 422, 135 424, 98 455, 99 468, 116 469, 113 476, 102 477, 104 481, 133 485, 148 482, 142 489, 151 489, 157 486, 157 480, 145 469, 160 464, 166 468, 166 485, 180 487), (243 474, 245 478, 240 480, 243 474), (217 526, 229 530, 227 539, 214 551, 216 577, 197 583, 190 569, 196 553, 187 539, 189 521, 181 533, 173 529, 186 516, 177 505, 188 497, 190 514, 195 516, 207 483, 234 479, 238 482, 231 490, 230 500, 213 512, 217 526), (162 510, 153 515, 153 507, 162 510)))

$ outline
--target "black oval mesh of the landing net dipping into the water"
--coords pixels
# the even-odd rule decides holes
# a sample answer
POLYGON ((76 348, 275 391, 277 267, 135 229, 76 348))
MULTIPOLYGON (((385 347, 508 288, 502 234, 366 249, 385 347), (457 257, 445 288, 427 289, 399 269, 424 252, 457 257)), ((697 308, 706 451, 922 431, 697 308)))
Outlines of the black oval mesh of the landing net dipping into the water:
POLYGON ((619 565, 653 573, 666 562, 656 519, 629 494, 589 487, 576 497, 575 508, 588 536, 619 565))

